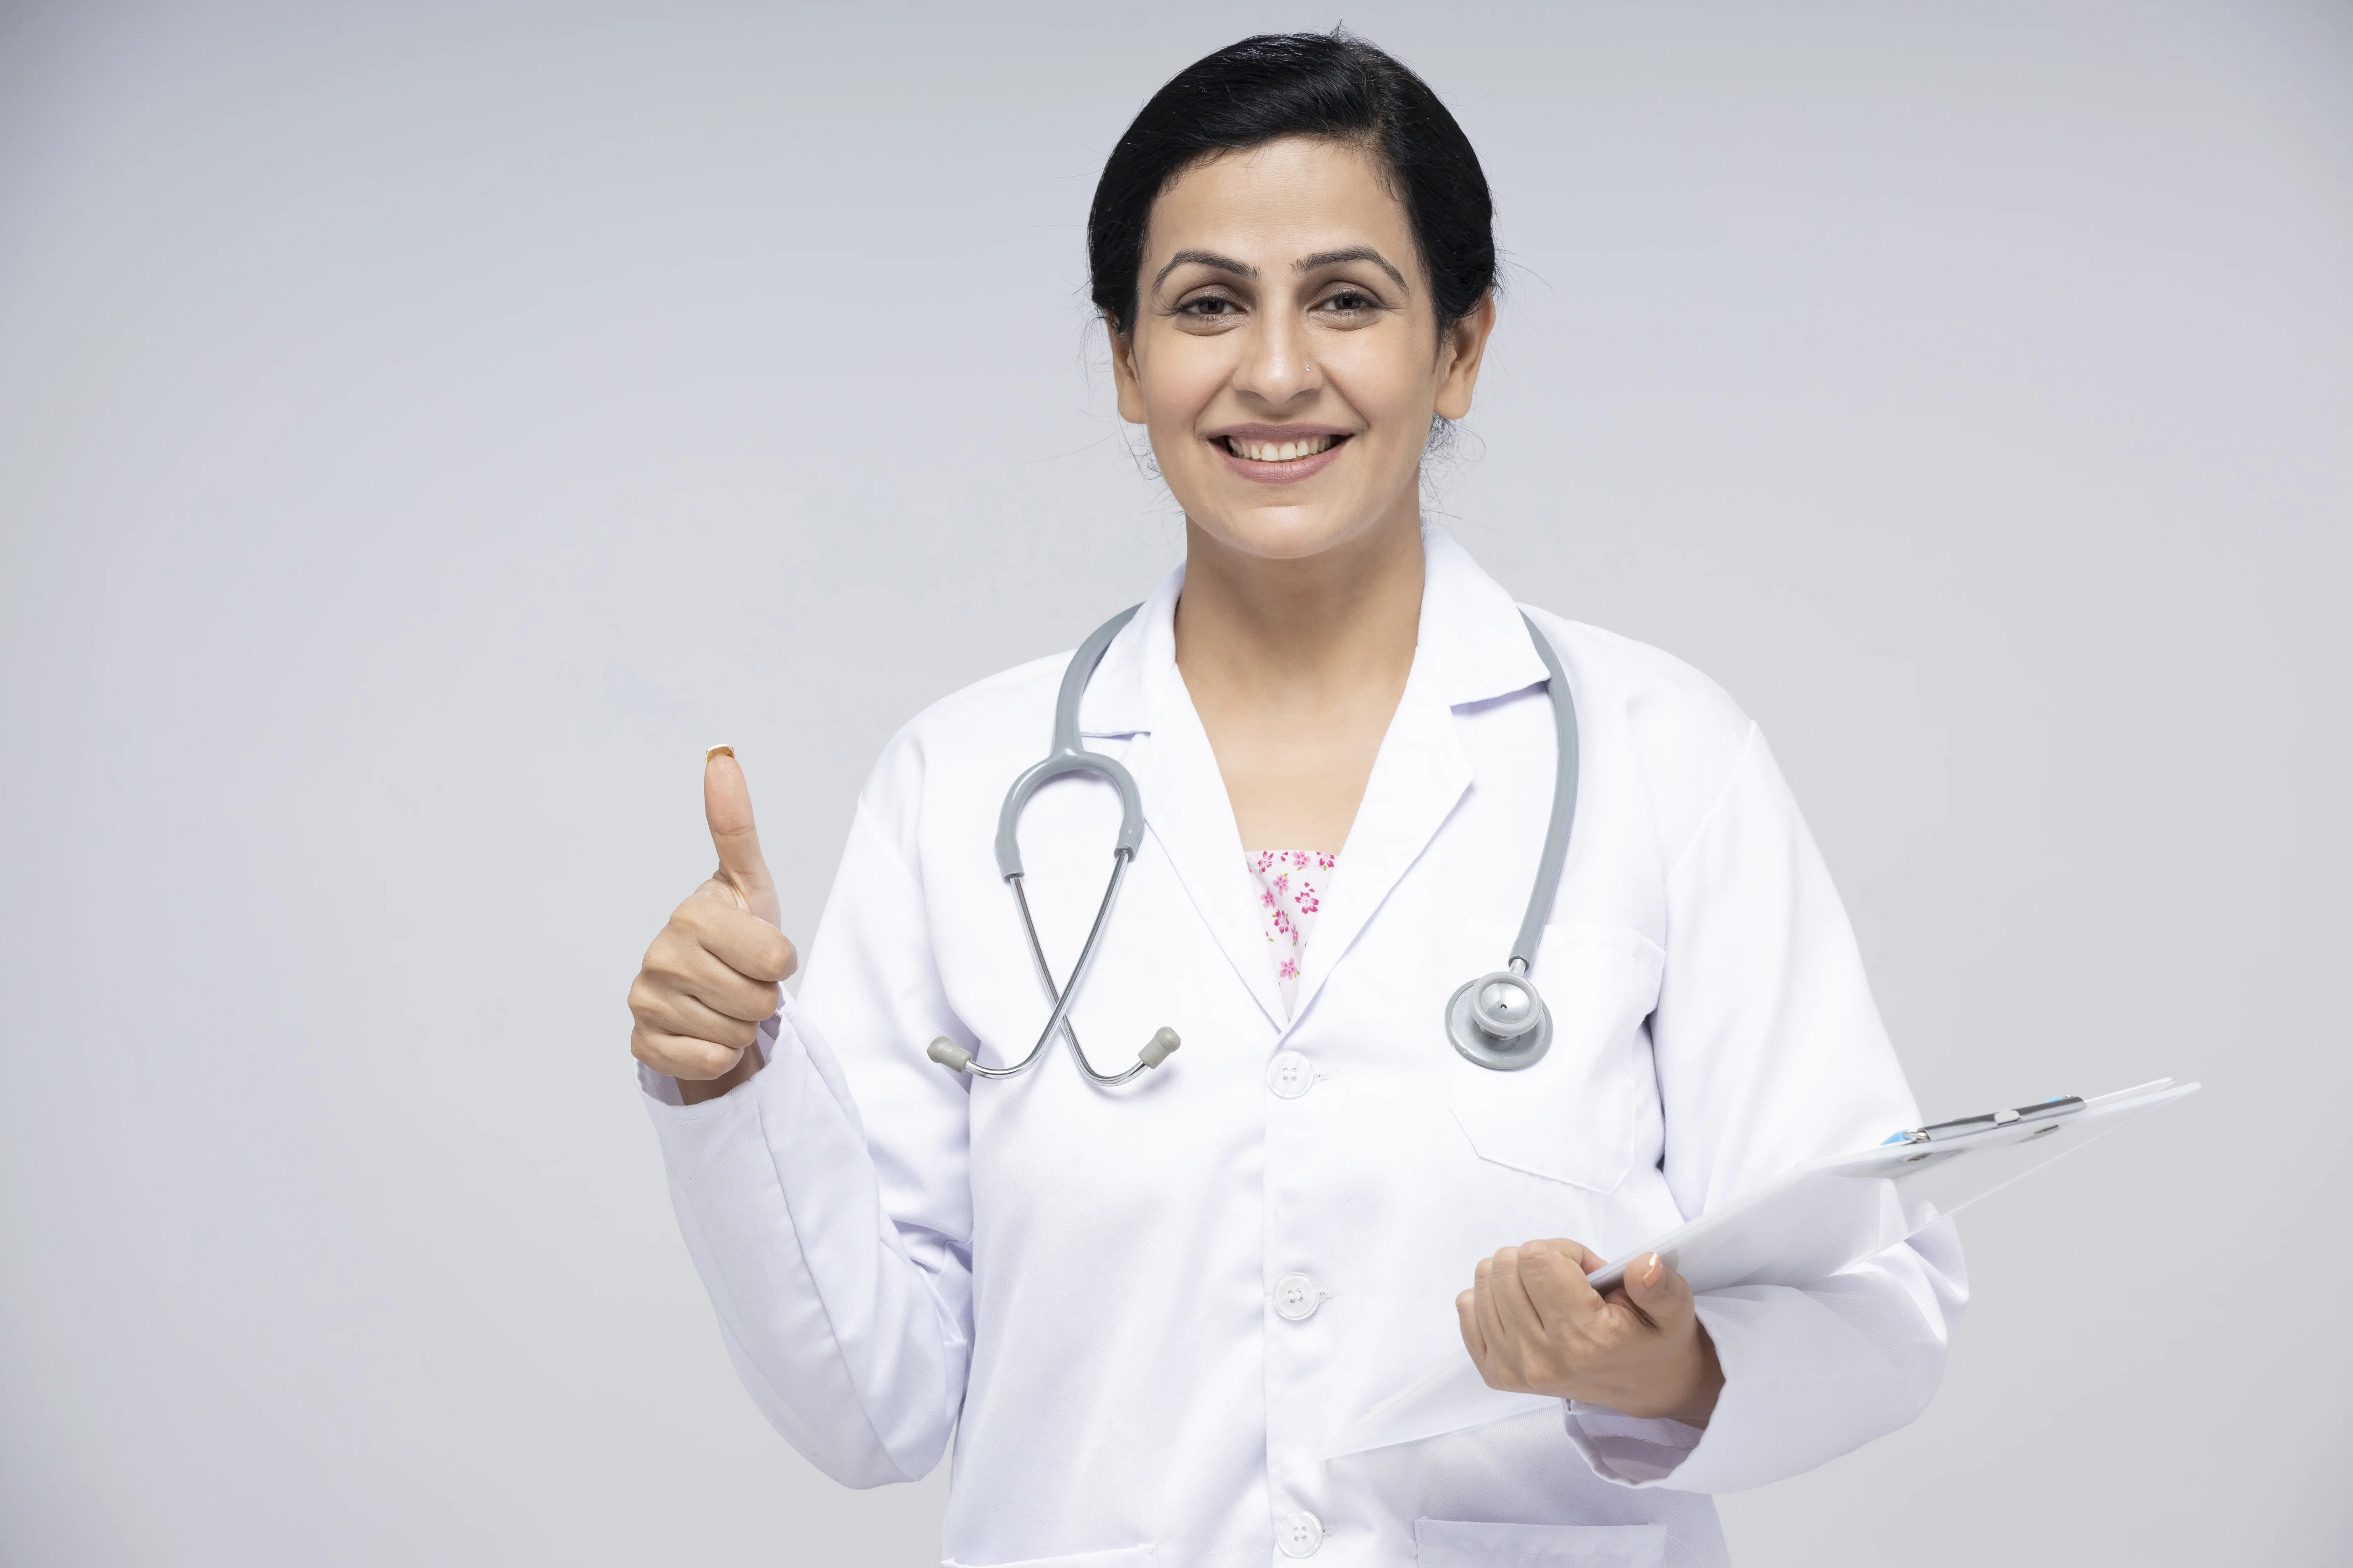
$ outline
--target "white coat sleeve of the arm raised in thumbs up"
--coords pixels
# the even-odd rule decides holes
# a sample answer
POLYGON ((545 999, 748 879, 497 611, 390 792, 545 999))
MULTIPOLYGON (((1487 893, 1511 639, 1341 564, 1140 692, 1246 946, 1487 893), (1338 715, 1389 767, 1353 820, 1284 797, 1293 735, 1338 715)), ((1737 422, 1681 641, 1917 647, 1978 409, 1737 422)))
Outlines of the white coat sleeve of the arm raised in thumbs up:
POLYGON ((640 1079, 736 1375, 793 1448, 849 1486, 927 1474, 962 1406, 965 1100, 920 1044, 951 1032, 920 886, 861 802, 800 997, 762 1030, 767 1065, 701 1105, 680 1105, 668 1079, 640 1079), (859 1063, 904 1112, 882 1138, 852 1098, 828 1020, 845 1051, 915 1041, 859 1063), (894 1093, 894 1074, 913 1079, 899 1058, 944 1084, 894 1093))

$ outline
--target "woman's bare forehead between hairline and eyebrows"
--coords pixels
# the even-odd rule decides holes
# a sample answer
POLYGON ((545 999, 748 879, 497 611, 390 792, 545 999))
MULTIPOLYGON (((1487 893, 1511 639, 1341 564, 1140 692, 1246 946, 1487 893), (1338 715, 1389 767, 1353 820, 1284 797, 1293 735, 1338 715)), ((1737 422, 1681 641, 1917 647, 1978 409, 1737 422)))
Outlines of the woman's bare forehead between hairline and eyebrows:
POLYGON ((1144 233, 1146 277, 1181 249, 1259 268, 1372 244, 1414 270, 1414 230, 1379 160, 1348 141, 1285 136, 1219 153, 1169 181, 1144 233))

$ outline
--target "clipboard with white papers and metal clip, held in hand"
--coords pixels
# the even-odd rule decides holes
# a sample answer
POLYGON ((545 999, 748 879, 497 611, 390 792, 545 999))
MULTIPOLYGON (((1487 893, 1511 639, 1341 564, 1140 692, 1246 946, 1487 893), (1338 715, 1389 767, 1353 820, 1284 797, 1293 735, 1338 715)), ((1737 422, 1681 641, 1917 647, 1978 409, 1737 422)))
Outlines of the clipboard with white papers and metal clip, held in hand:
MULTIPOLYGON (((1614 1258, 1588 1279, 1595 1291, 1614 1291, 1626 1281, 1628 1262, 1659 1253, 1699 1295, 1814 1284, 2191 1093, 2198 1084, 2158 1079, 2094 1100, 2059 1095, 1906 1128, 1859 1154, 1798 1166, 1737 1204, 1614 1258)), ((1334 1434, 1318 1458, 1419 1443, 1558 1403, 1548 1394, 1489 1389, 1471 1356, 1454 1352, 1334 1434)))

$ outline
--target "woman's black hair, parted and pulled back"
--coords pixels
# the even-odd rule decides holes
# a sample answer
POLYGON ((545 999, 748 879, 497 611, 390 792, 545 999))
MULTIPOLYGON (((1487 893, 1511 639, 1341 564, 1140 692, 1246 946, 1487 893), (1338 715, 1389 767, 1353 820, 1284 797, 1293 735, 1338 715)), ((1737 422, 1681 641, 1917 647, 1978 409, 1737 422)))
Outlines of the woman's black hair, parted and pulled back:
POLYGON ((1494 202, 1471 139, 1428 82, 1362 38, 1259 33, 1193 61, 1136 113, 1104 160, 1087 212, 1094 306, 1136 327, 1144 226, 1167 186, 1205 158, 1282 136, 1353 141, 1405 202, 1438 329, 1494 292, 1494 202))

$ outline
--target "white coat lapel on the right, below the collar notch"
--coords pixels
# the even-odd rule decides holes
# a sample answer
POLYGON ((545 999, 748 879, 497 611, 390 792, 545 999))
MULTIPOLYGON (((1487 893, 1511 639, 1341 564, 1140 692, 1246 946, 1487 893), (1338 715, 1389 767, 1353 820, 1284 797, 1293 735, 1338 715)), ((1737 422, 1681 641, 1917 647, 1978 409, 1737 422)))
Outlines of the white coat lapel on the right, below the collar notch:
MULTIPOLYGON (((1442 691, 1442 661, 1428 637, 1414 649, 1405 696, 1381 736, 1381 750, 1365 780, 1348 842, 1339 851, 1332 889, 1299 959, 1299 992, 1292 1018, 1306 1018, 1315 994, 1348 957, 1372 917, 1388 903, 1398 879, 1461 804, 1471 788, 1471 755, 1454 731, 1454 710, 1442 691)), ((1275 1018, 1282 1018, 1278 1011, 1275 1018)))

